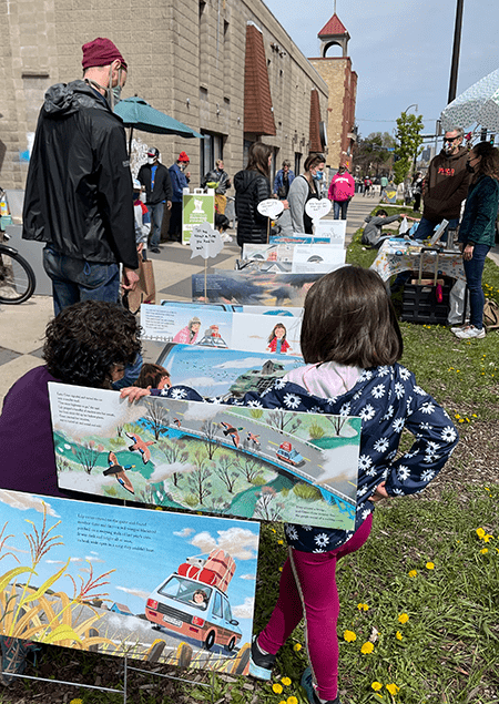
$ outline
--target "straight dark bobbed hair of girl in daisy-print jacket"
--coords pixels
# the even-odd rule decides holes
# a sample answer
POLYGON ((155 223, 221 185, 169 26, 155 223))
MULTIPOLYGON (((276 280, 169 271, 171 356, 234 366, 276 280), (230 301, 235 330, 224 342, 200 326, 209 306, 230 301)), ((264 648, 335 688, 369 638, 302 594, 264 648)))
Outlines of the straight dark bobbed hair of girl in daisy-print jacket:
POLYGON ((307 364, 368 369, 400 359, 404 343, 381 277, 343 266, 319 278, 305 298, 301 346, 307 364))

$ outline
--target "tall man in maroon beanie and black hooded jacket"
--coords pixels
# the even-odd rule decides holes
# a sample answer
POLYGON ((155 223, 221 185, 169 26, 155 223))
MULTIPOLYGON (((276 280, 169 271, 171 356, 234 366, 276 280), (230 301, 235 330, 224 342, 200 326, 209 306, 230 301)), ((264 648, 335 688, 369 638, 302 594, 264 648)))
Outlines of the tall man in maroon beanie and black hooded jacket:
POLYGON ((26 185, 24 239, 45 242, 55 315, 84 299, 116 302, 139 276, 132 177, 113 101, 126 63, 109 39, 83 45, 83 80, 45 93, 26 185))

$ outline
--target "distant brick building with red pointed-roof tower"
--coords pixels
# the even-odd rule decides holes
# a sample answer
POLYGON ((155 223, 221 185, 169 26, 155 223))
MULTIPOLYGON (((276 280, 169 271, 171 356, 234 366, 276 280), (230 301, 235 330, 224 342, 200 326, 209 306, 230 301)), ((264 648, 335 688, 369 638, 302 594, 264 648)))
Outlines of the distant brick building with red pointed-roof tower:
POLYGON ((350 35, 335 12, 317 37, 320 40, 320 57, 309 59, 309 62, 329 89, 327 165, 336 170, 340 163, 346 163, 352 167, 352 146, 356 140, 357 73, 352 69, 352 59, 347 55, 350 35), (328 49, 334 45, 340 47, 342 55, 326 57, 328 49))

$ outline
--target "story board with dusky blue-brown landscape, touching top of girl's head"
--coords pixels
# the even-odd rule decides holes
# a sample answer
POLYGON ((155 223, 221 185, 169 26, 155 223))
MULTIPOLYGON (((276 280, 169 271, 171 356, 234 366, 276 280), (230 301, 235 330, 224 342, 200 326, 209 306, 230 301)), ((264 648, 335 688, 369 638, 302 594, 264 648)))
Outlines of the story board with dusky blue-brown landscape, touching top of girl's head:
POLYGON ((215 269, 206 277, 193 274, 192 298, 202 303, 303 307, 310 286, 323 274, 276 274, 215 269))

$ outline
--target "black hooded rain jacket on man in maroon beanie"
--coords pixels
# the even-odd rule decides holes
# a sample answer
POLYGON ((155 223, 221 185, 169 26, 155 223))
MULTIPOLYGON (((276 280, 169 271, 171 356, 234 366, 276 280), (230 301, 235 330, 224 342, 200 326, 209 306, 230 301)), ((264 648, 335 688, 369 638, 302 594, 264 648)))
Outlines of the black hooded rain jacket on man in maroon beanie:
POLYGON ((123 122, 84 81, 58 83, 45 93, 22 236, 77 259, 139 266, 123 122))

